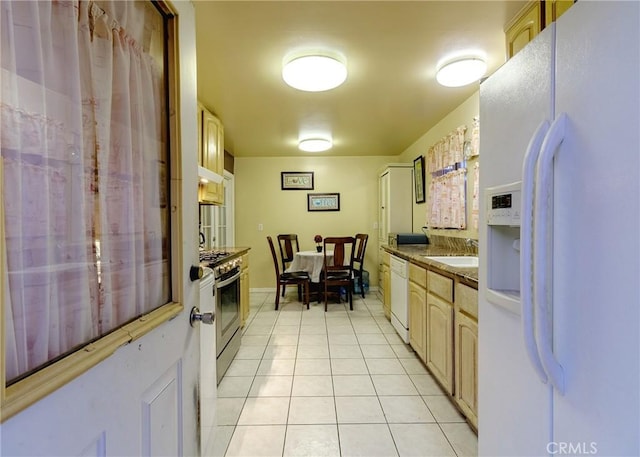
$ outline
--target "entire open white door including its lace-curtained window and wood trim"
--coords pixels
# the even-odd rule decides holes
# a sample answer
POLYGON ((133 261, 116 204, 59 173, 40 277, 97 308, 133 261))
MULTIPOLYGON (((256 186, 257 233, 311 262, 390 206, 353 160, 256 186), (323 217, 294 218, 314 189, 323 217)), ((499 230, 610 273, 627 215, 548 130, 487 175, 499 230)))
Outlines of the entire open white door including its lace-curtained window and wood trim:
POLYGON ((172 8, 0 6, 1 455, 199 453, 195 59, 163 58, 195 19, 172 8))

